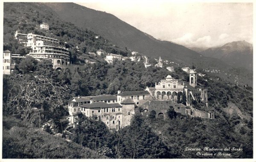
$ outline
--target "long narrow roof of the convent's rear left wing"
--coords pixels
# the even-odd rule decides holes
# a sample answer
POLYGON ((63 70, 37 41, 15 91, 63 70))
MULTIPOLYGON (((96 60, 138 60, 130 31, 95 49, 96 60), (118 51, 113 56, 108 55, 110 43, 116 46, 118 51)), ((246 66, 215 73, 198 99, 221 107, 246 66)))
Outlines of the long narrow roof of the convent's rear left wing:
POLYGON ((116 95, 96 95, 96 96, 74 97, 73 100, 76 102, 85 102, 85 101, 90 101, 90 98, 93 98, 93 101, 117 99, 116 95))

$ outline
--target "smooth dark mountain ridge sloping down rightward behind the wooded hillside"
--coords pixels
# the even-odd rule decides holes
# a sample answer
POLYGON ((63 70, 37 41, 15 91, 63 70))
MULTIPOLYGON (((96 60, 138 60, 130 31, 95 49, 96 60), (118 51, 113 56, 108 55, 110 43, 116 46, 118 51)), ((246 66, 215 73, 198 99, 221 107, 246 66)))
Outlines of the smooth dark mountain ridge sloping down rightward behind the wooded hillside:
MULTIPOLYGON (((161 56, 163 59, 175 61, 183 66, 191 65, 194 62, 197 67, 202 69, 220 69, 224 73, 240 75, 243 78, 241 84, 252 86, 250 77, 252 73, 243 70, 244 72, 240 74, 219 59, 201 56, 201 54, 176 43, 157 40, 112 14, 89 9, 75 3, 42 3, 43 5, 54 10, 63 20, 82 29, 96 32, 118 46, 127 47, 131 51, 137 51, 152 58, 161 56), (67 10, 69 12, 66 12, 67 10)), ((225 75, 221 75, 221 77, 233 82, 225 75)))

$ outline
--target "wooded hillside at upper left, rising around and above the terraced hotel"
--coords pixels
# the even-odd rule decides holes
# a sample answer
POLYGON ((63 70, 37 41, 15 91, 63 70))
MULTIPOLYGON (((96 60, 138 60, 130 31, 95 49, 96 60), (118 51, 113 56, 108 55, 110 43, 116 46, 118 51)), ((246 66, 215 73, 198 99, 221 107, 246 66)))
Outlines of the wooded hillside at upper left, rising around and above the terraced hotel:
MULTIPOLYGON (((14 38, 14 33, 33 33, 55 38, 70 50, 72 63, 85 63, 77 59, 79 55, 88 52, 96 52, 103 49, 106 52, 127 55, 125 48, 115 46, 105 38, 96 38, 97 33, 83 30, 72 23, 62 20, 52 9, 40 3, 4 3, 3 14, 3 49, 9 49, 12 53, 25 55, 26 50, 14 38), (41 30, 40 24, 48 23, 49 31, 41 30), (76 51, 76 46, 81 50, 76 51)), ((88 55, 87 55, 88 56, 88 55)), ((89 57, 89 56, 88 56, 89 57)))

